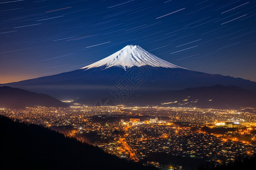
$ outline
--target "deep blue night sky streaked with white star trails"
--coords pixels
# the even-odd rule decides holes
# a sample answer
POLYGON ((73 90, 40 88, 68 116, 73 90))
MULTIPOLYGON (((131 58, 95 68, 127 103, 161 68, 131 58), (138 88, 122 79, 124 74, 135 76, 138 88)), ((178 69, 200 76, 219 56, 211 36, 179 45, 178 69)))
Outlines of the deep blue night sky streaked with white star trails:
POLYGON ((139 45, 256 81, 256 1, 0 1, 0 83, 72 71, 139 45))

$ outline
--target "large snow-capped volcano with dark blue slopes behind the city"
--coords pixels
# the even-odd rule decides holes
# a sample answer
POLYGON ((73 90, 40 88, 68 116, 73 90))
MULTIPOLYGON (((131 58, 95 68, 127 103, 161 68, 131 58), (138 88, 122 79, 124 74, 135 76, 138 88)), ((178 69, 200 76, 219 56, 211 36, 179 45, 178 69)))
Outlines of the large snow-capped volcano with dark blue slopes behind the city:
POLYGON ((256 83, 250 80, 176 66, 138 45, 127 45, 109 57, 78 70, 5 84, 82 104, 95 104, 105 97, 115 103, 134 105, 136 103, 128 99, 148 96, 148 100, 154 101, 158 93, 216 85, 256 91, 256 83))

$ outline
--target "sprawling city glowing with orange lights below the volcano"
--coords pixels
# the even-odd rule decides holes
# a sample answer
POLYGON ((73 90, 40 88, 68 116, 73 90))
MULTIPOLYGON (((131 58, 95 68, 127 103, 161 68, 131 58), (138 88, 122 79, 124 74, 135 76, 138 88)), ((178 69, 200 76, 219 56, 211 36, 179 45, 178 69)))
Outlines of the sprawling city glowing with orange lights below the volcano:
MULTIPOLYGON (((168 107, 32 107, 2 115, 61 131, 135 162, 166 168, 159 153, 228 163, 255 153, 256 115, 237 110, 168 107), (219 129, 219 130, 218 130, 219 129)), ((182 165, 172 165, 180 168, 182 165)))

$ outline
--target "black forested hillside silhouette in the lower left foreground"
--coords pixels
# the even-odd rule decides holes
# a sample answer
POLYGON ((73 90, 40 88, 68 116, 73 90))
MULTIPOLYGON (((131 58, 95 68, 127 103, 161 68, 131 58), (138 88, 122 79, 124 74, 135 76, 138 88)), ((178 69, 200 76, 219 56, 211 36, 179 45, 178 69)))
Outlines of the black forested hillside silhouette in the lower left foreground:
POLYGON ((156 169, 5 116, 0 116, 0 134, 0 169, 156 169))

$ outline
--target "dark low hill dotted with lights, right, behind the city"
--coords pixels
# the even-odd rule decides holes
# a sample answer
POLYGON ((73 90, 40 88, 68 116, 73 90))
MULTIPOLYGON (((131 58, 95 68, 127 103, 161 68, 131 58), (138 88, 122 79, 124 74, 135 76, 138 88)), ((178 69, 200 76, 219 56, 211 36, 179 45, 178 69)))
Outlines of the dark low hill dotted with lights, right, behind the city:
POLYGON ((197 107, 216 109, 256 108, 256 92, 236 86, 212 86, 186 88, 151 95, 133 97, 137 105, 160 105, 170 107, 197 107), (154 100, 153 100, 154 99, 154 100))

